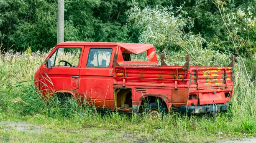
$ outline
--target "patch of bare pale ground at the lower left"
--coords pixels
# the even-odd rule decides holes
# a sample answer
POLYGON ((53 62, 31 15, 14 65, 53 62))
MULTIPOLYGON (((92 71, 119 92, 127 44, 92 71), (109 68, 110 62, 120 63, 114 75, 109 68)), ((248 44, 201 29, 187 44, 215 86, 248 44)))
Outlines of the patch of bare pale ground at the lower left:
POLYGON ((24 131, 24 132, 31 132, 31 133, 41 133, 44 128, 33 125, 29 123, 23 123, 23 122, 0 122, 0 128, 3 128, 4 130, 12 130, 15 129, 17 131, 24 131))

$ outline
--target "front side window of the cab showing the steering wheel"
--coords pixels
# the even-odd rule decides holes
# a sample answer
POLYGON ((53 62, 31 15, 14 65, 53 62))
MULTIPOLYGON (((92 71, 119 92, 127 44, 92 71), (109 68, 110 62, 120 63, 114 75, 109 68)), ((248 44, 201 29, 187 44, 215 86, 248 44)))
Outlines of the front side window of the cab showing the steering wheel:
POLYGON ((81 51, 81 48, 58 48, 51 55, 51 66, 77 67, 81 51))

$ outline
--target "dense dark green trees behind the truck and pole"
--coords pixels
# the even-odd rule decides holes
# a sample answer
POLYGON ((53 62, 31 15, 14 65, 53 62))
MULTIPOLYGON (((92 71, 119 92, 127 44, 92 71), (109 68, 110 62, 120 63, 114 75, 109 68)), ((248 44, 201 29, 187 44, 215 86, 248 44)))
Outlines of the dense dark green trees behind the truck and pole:
MULTIPOLYGON (((65 0, 64 41, 108 41, 138 43, 141 27, 127 26, 129 11, 139 8, 171 7, 179 10, 174 15, 190 18, 192 26, 185 32, 201 34, 203 47, 225 51, 233 45, 227 41, 223 21, 218 8, 211 0, 65 0)), ((5 51, 48 50, 56 45, 57 0, 0 0, 0 40, 5 51)), ((225 12, 255 11, 254 0, 226 0, 225 12)), ((255 15, 255 14, 254 14, 255 15)), ((253 19, 252 19, 253 20, 253 19)), ((243 25, 238 25, 243 28, 243 25)), ((235 27, 237 27, 235 26, 235 27)), ((240 33, 241 36, 248 33, 240 33)), ((255 41, 255 27, 249 33, 255 41), (254 30, 254 34, 253 34, 254 30)), ((145 42, 145 41, 144 41, 145 42)), ((245 42, 243 51, 255 52, 255 43, 245 42)), ((156 45, 157 46, 157 45, 156 45)))

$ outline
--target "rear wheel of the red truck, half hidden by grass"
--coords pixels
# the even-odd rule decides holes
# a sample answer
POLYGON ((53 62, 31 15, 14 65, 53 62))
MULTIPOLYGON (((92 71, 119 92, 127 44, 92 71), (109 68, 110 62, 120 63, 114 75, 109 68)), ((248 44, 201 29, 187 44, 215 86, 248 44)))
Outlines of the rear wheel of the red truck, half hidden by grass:
POLYGON ((164 103, 150 103, 144 108, 144 112, 148 118, 162 118, 168 112, 164 103))

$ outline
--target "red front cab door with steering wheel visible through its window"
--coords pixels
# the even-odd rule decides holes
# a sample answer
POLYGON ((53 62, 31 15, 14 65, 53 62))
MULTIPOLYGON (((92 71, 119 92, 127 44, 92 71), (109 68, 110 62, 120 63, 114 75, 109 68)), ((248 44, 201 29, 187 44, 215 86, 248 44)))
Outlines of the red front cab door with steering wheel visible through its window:
POLYGON ((79 88, 79 69, 84 46, 57 47, 49 55, 51 68, 43 65, 40 70, 41 90, 54 93, 57 90, 79 88))

